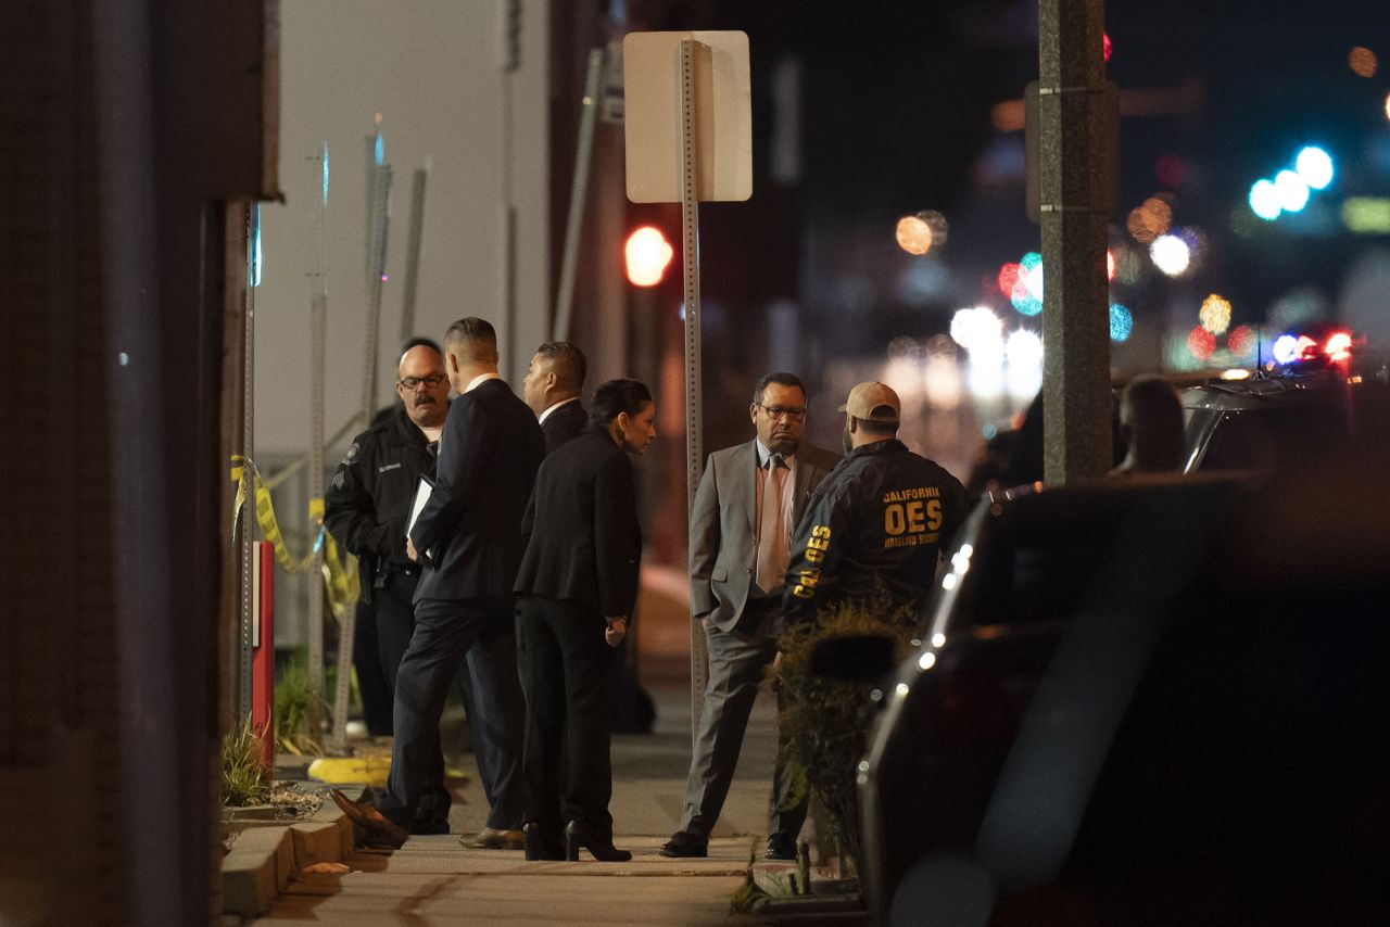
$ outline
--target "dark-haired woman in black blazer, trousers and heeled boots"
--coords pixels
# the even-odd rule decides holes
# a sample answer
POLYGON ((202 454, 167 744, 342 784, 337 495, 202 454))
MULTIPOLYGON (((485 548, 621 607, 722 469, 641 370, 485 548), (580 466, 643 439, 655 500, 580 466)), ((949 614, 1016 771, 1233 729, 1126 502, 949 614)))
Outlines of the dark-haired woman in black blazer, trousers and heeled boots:
POLYGON ((610 648, 637 600, 632 459, 656 438, 655 411, 638 381, 602 384, 589 428, 545 459, 527 506, 516 581, 527 859, 578 859, 580 846, 605 862, 632 858, 614 849, 607 810, 610 648))

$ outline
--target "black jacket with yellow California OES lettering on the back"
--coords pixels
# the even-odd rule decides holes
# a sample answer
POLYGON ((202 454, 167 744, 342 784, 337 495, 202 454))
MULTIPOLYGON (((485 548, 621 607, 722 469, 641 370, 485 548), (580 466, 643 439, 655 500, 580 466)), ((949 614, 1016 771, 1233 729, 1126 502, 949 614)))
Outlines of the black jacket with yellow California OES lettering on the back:
POLYGON ((855 448, 816 489, 796 525, 783 614, 873 596, 916 607, 965 521, 960 481, 898 439, 855 448))

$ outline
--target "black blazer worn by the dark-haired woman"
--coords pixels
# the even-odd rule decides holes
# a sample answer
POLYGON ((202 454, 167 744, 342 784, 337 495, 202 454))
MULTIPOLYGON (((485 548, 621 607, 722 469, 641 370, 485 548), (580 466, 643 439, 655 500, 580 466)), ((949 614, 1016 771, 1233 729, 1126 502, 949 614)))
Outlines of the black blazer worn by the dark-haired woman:
POLYGON ((642 557, 632 461, 607 429, 589 428, 541 464, 521 534, 518 593, 631 617, 642 557))

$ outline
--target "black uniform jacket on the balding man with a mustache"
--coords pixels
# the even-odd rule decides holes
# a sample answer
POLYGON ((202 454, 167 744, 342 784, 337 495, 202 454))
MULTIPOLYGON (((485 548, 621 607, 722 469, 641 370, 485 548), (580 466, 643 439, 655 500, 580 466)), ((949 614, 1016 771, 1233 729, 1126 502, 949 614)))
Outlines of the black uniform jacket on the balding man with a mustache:
POLYGON ((324 524, 361 563, 363 599, 388 573, 418 573, 406 556, 406 523, 421 475, 434 475, 430 442, 404 406, 353 438, 324 493, 324 524))

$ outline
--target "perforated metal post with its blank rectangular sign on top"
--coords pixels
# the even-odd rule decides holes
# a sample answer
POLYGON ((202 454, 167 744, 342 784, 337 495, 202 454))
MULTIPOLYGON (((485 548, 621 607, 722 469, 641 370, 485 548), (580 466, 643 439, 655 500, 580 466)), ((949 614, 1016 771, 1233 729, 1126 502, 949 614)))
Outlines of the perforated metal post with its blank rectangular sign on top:
MULTIPOLYGON (((753 192, 748 35, 632 32, 623 39, 627 196, 681 204, 685 278, 685 488, 705 464, 701 409, 699 200, 753 192), (676 126, 677 131, 671 131, 676 126)), ((703 628, 691 623, 691 741, 708 677, 703 628)))

